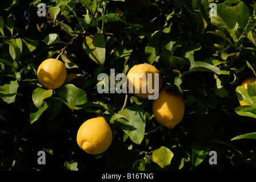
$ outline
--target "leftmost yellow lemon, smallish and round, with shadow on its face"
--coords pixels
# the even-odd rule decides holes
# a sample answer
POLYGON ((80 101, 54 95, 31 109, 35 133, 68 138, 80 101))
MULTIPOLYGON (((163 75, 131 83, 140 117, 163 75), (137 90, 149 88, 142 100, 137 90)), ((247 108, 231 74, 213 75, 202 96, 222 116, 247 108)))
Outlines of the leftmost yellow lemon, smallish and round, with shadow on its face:
POLYGON ((37 70, 38 81, 47 89, 57 89, 66 80, 67 70, 62 61, 47 59, 37 70))

